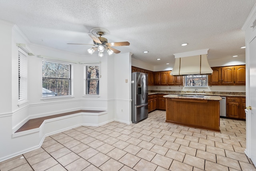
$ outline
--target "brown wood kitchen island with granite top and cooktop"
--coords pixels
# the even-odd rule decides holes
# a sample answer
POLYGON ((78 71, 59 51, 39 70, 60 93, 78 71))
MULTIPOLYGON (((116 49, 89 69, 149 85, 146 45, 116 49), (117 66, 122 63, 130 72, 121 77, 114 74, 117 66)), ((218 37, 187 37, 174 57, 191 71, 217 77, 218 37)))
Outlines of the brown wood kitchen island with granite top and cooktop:
POLYGON ((177 95, 166 97, 166 122, 220 131, 220 96, 177 95))

